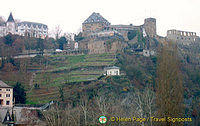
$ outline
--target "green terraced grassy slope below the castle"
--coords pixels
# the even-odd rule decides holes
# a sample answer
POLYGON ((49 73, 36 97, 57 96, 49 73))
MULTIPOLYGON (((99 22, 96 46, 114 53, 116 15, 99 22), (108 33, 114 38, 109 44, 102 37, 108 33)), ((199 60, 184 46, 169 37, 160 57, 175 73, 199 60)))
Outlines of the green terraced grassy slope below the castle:
POLYGON ((80 84, 70 85, 66 82, 83 82, 96 80, 104 72, 103 68, 115 64, 115 55, 110 53, 93 55, 52 55, 48 57, 49 66, 46 71, 39 71, 34 79, 34 84, 28 91, 29 104, 46 103, 56 100, 59 95, 59 87, 64 86, 65 95, 68 92, 81 90, 80 84))

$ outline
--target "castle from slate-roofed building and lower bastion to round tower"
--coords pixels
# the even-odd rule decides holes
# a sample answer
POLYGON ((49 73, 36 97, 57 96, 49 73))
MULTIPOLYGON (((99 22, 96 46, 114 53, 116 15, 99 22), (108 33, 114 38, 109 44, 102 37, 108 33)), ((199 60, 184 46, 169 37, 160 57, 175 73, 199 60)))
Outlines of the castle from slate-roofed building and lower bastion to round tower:
POLYGON ((89 53, 117 52, 127 46, 124 41, 129 41, 128 33, 139 31, 144 37, 157 37, 156 19, 147 18, 140 26, 111 25, 99 13, 93 12, 82 23, 82 37, 79 42, 80 49, 88 50, 89 53))

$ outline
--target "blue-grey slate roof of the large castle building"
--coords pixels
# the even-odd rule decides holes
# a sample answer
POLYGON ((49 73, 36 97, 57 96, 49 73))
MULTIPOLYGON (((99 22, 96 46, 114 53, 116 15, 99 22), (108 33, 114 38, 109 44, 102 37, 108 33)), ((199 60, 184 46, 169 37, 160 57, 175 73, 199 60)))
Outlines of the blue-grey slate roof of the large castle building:
POLYGON ((92 15, 90 15, 84 22, 83 24, 88 24, 88 23, 105 23, 106 25, 110 25, 110 23, 103 18, 99 13, 93 12, 92 15))

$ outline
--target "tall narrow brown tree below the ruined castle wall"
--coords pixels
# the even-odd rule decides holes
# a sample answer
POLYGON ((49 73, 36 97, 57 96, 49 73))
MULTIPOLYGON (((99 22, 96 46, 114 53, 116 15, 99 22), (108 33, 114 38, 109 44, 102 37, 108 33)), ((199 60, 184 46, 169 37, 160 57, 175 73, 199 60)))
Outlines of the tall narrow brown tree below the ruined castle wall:
MULTIPOLYGON (((182 74, 177 47, 172 43, 164 46, 159 54, 156 104, 160 117, 182 117, 183 115, 182 74)), ((164 125, 171 125, 171 122, 167 121, 164 125)))

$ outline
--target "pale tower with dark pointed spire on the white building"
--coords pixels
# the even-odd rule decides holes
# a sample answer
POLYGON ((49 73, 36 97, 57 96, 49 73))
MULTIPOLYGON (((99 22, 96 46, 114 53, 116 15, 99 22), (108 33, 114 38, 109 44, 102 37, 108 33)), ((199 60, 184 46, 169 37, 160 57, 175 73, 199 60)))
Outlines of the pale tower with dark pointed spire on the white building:
POLYGON ((16 26, 15 26, 15 20, 12 16, 12 13, 10 13, 8 20, 6 22, 6 33, 12 33, 15 34, 16 33, 16 26))

